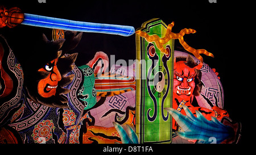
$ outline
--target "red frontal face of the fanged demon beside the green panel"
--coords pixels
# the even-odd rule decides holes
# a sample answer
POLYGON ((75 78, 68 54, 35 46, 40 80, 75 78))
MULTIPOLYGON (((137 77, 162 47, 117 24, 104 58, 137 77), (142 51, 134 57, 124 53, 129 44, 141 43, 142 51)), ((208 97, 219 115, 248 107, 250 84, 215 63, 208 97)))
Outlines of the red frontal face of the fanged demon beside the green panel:
POLYGON ((196 72, 194 68, 189 68, 184 62, 186 61, 179 61, 175 64, 173 93, 175 98, 188 101, 196 86, 196 72))

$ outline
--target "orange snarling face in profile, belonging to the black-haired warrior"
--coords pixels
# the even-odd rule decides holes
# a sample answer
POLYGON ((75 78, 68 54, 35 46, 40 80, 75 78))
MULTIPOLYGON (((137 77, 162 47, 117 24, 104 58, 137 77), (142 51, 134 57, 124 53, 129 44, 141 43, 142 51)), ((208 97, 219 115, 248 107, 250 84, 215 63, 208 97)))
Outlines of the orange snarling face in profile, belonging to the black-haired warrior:
POLYGON ((44 79, 41 79, 38 82, 38 93, 44 97, 49 98, 52 95, 56 94, 56 89, 58 82, 61 80, 61 75, 57 69, 58 58, 49 62, 44 68, 40 68, 38 71, 48 72, 48 76, 44 79))

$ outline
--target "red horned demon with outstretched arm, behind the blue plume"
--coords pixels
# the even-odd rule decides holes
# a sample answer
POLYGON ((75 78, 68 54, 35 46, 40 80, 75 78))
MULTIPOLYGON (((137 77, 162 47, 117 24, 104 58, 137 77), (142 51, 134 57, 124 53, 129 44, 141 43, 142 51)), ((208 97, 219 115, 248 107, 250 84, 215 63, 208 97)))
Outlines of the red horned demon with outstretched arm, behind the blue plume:
POLYGON ((207 108, 192 106, 194 96, 200 95, 203 85, 200 68, 201 65, 197 65, 191 56, 175 58, 172 106, 181 111, 182 114, 185 114, 181 107, 182 104, 185 104, 192 112, 195 112, 195 110, 202 112, 208 120, 210 120, 211 116, 221 120, 224 116, 229 116, 228 112, 221 108, 214 106, 212 107, 213 110, 208 110, 207 108))

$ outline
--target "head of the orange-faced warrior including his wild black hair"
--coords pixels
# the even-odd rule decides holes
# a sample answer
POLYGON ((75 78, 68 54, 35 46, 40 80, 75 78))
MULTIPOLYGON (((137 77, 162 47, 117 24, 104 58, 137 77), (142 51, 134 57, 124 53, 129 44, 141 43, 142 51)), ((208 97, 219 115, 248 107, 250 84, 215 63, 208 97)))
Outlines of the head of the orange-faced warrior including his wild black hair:
POLYGON ((36 41, 11 37, 7 38, 7 42, 22 66, 24 88, 30 99, 49 107, 68 108, 68 100, 62 94, 67 94, 69 90, 63 86, 72 81, 72 76, 65 75, 72 70, 77 53, 61 57, 67 52, 61 49, 65 39, 49 41, 46 35, 41 35, 36 41))

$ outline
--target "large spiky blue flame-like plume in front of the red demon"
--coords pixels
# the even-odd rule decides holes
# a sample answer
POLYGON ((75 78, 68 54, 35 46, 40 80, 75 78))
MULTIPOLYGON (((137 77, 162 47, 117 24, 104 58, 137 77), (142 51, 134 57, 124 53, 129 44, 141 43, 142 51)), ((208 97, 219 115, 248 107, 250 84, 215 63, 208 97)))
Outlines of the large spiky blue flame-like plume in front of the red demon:
POLYGON ((216 143, 221 143, 234 134, 231 127, 225 126, 216 118, 212 117, 210 121, 197 110, 196 116, 194 116, 187 106, 183 105, 183 108, 187 115, 181 114, 174 108, 164 108, 172 115, 177 124, 184 129, 184 132, 176 132, 181 138, 199 140, 198 143, 212 143, 214 138, 216 143))

